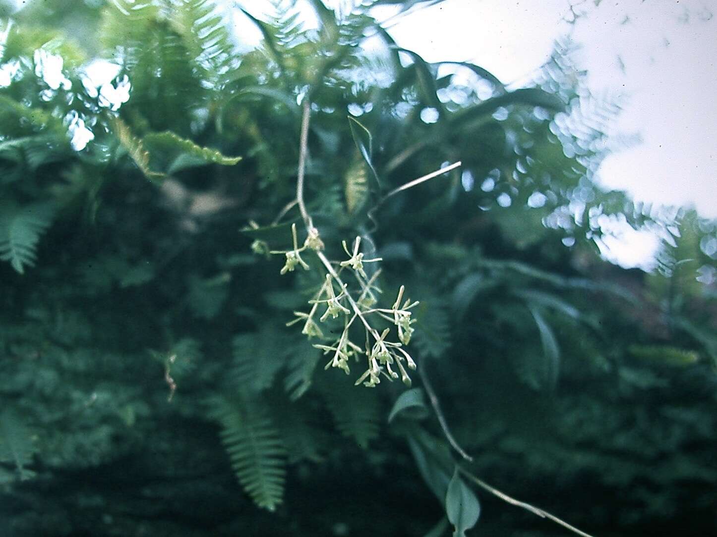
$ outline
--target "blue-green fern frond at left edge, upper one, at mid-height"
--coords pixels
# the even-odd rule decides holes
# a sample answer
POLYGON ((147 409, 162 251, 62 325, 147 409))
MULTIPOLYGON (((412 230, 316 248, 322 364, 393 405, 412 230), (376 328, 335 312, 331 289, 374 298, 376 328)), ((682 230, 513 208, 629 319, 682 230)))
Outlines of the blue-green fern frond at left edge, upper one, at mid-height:
POLYGON ((49 203, 0 204, 0 260, 9 261, 20 274, 25 266, 34 266, 37 243, 53 216, 54 207, 49 203))

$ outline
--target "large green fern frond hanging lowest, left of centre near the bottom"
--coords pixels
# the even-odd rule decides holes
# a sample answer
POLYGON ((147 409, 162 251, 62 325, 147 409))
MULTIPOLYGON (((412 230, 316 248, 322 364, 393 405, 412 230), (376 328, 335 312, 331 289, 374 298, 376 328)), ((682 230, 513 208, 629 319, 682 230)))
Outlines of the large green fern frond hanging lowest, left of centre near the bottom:
POLYGON ((215 401, 213 414, 239 484, 259 507, 274 511, 284 493, 286 450, 267 412, 234 398, 215 401))

